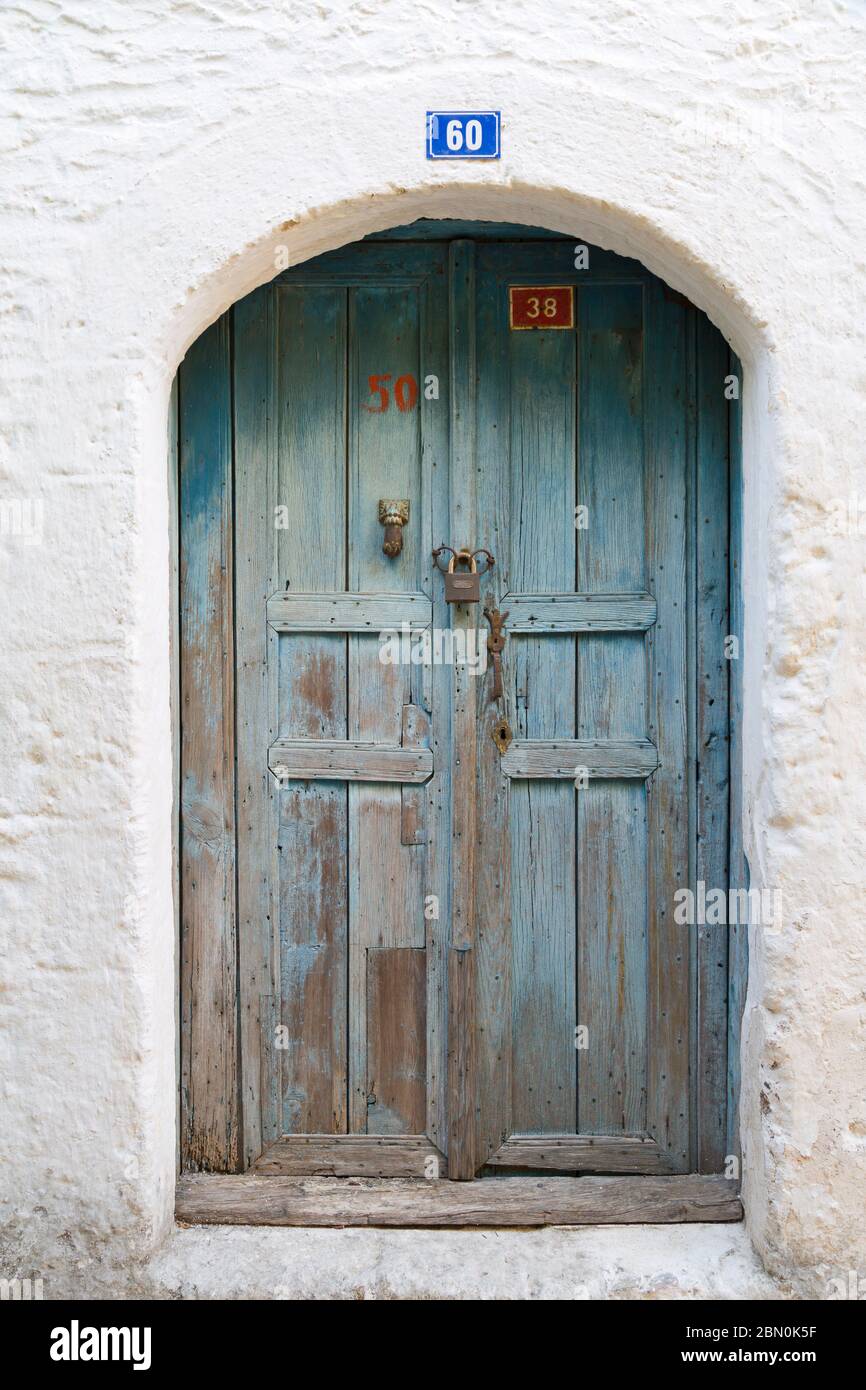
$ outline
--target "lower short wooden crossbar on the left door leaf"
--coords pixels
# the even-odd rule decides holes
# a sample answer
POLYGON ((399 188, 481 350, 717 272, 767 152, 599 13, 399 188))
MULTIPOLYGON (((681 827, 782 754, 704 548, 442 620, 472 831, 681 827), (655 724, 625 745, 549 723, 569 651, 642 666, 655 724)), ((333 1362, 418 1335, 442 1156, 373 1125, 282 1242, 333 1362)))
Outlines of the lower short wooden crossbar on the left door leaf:
POLYGON ((432 776, 432 752, 345 738, 281 738, 271 744, 268 767, 278 781, 424 783, 432 776))

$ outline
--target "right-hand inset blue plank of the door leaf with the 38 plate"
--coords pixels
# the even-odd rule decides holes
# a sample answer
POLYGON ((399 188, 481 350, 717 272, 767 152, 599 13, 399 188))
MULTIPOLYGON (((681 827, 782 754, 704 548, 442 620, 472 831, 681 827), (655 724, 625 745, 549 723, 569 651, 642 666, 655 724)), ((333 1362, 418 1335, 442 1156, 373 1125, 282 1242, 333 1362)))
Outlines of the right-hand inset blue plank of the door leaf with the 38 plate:
MULTIPOLYGON (((639 285, 580 293, 578 587, 644 589, 644 320, 639 285)), ((680 620, 684 609, 671 614, 680 620)), ((578 639, 578 738, 646 737, 645 639, 578 639)), ((595 783, 578 802, 578 1129, 646 1123, 646 791, 595 783)))

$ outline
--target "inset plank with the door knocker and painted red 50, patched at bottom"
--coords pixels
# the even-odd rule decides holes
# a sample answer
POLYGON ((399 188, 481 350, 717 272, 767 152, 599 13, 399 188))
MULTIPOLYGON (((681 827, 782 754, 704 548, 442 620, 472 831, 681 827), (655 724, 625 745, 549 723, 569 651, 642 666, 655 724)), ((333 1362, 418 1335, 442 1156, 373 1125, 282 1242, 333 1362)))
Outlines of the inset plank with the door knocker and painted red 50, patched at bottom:
MULTIPOLYGON (((420 296, 402 285, 354 286, 349 291, 352 332, 349 353, 349 587, 354 592, 389 589, 395 570, 406 589, 417 591, 423 553, 432 539, 418 532, 421 450, 417 404, 398 381, 417 382, 420 371, 420 296), (381 389, 375 389, 375 382, 381 389), (374 389, 371 389, 374 388, 374 389), (406 498, 410 523, 403 552, 395 562, 382 553, 379 498, 406 498)), ((373 744, 399 745, 403 708, 411 703, 411 667, 384 664, 375 637, 349 637, 349 735, 373 744)), ((406 756, 425 759, 430 752, 406 756)), ((420 948, 424 958, 424 851, 403 845, 400 787, 359 781, 348 788, 349 858, 349 1131, 411 1133, 407 1116, 424 1130, 425 1076, 418 1074, 417 1013, 420 976, 406 976, 403 951, 420 948), (399 979, 411 980, 406 1013, 388 1026, 399 979), (375 1011, 371 1013, 371 1008, 375 1011), (414 1040, 414 1041, 413 1041, 414 1040), (393 1055, 388 1059, 385 1048, 393 1055), (403 1072, 402 1084, 398 1074, 403 1072), (379 1094, 386 1091, 388 1094, 379 1094), (396 1126, 396 1129, 395 1129, 396 1126)), ((425 963, 425 960, 424 960, 425 963)), ((424 1062, 425 1065, 425 1062, 424 1062)))

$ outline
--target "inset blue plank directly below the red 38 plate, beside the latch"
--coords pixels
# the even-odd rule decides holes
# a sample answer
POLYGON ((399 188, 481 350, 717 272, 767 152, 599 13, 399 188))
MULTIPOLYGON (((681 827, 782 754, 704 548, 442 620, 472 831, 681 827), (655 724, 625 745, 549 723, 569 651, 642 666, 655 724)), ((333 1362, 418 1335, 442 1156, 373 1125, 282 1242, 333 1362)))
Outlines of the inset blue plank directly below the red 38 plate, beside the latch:
MULTIPOLYGON (((575 575, 575 339, 506 332, 510 577, 518 592, 563 592, 575 575)), ((574 738, 574 638, 514 637, 506 651, 525 692, 517 737, 574 738)), ((512 784, 512 1113, 521 1134, 574 1133, 577 1122, 574 834, 571 783, 512 784)))

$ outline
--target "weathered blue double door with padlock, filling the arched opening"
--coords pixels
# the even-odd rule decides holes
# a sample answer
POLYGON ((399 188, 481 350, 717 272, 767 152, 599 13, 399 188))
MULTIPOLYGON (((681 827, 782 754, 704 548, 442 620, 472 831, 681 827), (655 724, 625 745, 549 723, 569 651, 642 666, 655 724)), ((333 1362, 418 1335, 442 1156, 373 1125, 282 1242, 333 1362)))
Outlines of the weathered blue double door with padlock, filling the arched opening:
POLYGON ((435 224, 190 350, 188 1166, 724 1168, 734 954, 674 894, 727 885, 731 370, 635 263, 435 224), (438 641, 485 607, 499 699, 438 641))

